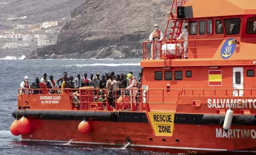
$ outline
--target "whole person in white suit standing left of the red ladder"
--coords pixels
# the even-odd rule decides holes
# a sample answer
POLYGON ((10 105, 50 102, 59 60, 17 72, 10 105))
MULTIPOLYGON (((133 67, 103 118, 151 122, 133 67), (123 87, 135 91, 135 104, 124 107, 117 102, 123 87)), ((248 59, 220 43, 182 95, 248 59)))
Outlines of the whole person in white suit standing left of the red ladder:
POLYGON ((163 33, 158 29, 158 25, 154 25, 154 30, 149 36, 149 40, 152 43, 151 45, 151 57, 152 59, 155 59, 153 55, 157 55, 158 57, 160 56, 160 48, 161 48, 161 41, 163 40, 163 33), (154 49, 154 54, 153 54, 153 49, 154 49))

